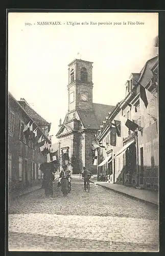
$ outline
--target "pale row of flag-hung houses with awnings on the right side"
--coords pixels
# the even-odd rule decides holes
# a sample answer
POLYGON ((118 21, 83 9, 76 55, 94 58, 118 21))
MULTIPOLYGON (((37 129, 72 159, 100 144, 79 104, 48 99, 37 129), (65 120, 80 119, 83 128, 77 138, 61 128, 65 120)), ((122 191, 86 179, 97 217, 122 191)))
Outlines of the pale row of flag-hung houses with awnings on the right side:
POLYGON ((139 74, 132 73, 125 86, 125 99, 100 127, 98 142, 104 147, 99 148, 98 176, 106 176, 112 183, 156 190, 159 183, 158 56, 149 59, 139 74), (132 130, 123 120, 131 121, 132 130))

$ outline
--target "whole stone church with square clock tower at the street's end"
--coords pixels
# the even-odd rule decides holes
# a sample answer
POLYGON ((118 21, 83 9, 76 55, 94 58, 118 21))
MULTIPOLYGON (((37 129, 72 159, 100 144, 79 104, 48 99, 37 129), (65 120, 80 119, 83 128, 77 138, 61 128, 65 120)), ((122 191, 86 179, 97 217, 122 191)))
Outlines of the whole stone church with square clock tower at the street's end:
POLYGON ((59 171, 67 165, 73 174, 79 173, 83 166, 97 173, 92 141, 114 106, 93 103, 92 89, 92 62, 75 59, 68 65, 68 111, 64 122, 60 120, 56 135, 59 171))

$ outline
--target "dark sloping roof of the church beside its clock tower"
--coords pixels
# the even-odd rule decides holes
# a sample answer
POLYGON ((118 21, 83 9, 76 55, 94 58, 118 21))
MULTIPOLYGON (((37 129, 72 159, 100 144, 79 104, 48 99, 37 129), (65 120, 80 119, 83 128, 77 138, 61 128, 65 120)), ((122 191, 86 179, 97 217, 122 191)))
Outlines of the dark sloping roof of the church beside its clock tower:
POLYGON ((99 130, 102 121, 113 109, 112 105, 93 103, 93 110, 78 110, 78 113, 86 129, 99 130))

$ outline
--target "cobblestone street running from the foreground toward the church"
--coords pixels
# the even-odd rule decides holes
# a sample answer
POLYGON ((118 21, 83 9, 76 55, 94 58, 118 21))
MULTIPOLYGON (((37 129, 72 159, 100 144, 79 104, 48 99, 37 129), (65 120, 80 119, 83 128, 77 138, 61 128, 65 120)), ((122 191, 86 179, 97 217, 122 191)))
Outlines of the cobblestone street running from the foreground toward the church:
POLYGON ((11 251, 158 251, 158 210, 114 191, 72 179, 63 197, 54 184, 9 205, 11 251))

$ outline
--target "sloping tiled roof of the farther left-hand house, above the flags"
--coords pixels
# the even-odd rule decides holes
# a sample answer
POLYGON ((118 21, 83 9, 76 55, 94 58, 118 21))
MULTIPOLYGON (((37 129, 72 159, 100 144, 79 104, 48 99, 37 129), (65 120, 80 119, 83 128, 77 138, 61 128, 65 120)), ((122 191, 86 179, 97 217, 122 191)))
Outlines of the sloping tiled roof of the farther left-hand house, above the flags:
POLYGON ((27 104, 25 101, 18 101, 18 102, 23 107, 23 109, 25 109, 25 111, 28 113, 28 115, 30 115, 37 124, 45 124, 45 125, 50 124, 45 119, 43 119, 37 112, 35 112, 31 108, 31 106, 29 104, 27 104))

